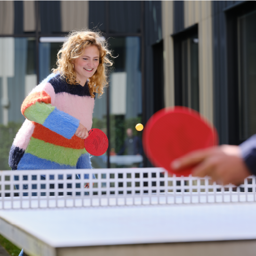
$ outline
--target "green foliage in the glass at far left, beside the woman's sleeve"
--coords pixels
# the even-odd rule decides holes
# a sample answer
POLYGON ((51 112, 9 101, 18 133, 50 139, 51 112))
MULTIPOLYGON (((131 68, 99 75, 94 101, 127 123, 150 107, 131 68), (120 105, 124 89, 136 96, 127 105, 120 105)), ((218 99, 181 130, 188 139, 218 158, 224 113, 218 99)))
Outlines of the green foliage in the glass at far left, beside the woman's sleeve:
POLYGON ((8 165, 9 151, 16 133, 22 124, 9 123, 7 126, 0 125, 0 170, 10 170, 8 165))

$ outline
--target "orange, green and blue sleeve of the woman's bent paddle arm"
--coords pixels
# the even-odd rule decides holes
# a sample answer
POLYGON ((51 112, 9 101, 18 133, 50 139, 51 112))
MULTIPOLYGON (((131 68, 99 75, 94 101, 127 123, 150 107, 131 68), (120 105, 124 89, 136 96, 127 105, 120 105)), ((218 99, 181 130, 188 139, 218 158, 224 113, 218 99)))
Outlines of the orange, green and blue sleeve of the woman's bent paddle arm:
POLYGON ((66 139, 71 139, 79 126, 78 119, 51 104, 51 97, 44 90, 30 93, 21 105, 21 113, 66 139))

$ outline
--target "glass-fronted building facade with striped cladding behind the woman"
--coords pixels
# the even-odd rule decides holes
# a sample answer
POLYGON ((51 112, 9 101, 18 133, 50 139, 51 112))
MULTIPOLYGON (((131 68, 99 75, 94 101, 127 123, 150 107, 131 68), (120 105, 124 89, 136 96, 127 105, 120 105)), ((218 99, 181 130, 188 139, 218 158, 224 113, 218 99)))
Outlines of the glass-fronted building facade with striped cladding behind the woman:
MULTIPOLYGON (((0 17, 0 124, 5 131, 0 132, 1 169, 8 168, 9 144, 24 121, 22 101, 55 67, 68 32, 86 28, 102 31, 116 57, 109 87, 96 99, 93 112, 93 127, 107 134, 110 146, 105 155, 91 158, 92 165, 149 164, 135 126, 145 124, 154 112, 152 100, 158 99, 152 45, 162 38, 160 0, 0 0, 0 17)), ((163 47, 160 53, 163 56, 163 47)))

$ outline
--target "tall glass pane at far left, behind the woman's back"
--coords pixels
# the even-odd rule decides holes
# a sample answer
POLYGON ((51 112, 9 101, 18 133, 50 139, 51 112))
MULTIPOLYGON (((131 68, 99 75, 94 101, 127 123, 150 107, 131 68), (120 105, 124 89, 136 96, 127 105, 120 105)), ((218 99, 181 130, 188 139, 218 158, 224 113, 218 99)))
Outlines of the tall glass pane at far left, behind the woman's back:
POLYGON ((20 106, 36 86, 35 38, 0 37, 0 169, 9 170, 8 152, 24 117, 20 106))

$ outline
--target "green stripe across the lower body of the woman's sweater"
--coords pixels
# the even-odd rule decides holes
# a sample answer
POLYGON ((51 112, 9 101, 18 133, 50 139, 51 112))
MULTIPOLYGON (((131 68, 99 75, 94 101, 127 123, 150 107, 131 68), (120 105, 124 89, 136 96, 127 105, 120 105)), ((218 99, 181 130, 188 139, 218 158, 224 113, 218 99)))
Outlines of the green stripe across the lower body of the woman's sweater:
POLYGON ((31 137, 25 152, 61 165, 76 166, 78 158, 86 153, 86 150, 53 145, 31 137))

